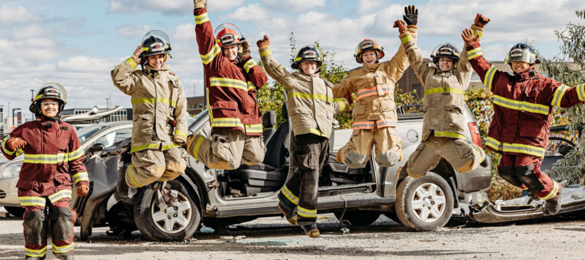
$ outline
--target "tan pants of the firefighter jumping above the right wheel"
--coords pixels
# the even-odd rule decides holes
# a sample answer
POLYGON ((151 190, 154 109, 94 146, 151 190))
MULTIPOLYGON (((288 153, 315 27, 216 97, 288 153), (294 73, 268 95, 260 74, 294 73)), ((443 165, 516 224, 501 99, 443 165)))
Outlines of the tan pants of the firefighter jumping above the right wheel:
POLYGON ((421 141, 408 158, 408 175, 412 178, 425 176, 439 164, 441 158, 445 158, 457 172, 463 174, 479 167, 486 159, 486 152, 464 139, 436 137, 431 134, 429 138, 421 141))

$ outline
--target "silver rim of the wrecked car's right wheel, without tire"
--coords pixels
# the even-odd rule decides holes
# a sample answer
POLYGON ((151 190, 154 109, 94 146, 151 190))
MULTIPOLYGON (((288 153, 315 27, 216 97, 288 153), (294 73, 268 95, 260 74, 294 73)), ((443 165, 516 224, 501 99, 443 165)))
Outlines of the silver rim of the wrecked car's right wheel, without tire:
POLYGON ((443 189, 435 183, 423 183, 412 194, 412 213, 418 220, 431 223, 445 213, 446 197, 443 189))

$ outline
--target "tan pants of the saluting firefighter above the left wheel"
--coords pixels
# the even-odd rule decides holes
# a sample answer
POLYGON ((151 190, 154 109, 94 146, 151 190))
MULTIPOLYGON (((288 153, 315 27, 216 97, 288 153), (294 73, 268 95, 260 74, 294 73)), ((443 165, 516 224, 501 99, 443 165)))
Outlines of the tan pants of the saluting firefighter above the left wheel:
POLYGON ((156 181, 168 181, 185 173, 187 152, 176 147, 169 150, 147 149, 132 153, 126 169, 126 184, 140 188, 156 181))

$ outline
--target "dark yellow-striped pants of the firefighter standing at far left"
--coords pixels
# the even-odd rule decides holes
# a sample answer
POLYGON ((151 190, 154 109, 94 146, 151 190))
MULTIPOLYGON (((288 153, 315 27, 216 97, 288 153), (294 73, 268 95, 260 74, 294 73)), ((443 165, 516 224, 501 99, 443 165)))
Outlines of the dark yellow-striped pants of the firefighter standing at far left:
POLYGON ((20 206, 25 207, 23 215, 26 258, 44 259, 47 252, 47 231, 51 227, 53 255, 73 252, 73 224, 77 214, 69 207, 71 185, 61 185, 49 196, 35 196, 32 190, 18 190, 20 206))

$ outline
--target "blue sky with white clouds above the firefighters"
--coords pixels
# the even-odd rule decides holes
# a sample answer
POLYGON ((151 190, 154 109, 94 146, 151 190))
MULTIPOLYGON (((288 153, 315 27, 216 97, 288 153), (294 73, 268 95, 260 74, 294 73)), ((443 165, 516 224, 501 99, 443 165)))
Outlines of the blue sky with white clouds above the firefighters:
MULTIPOLYGON (((208 0, 208 12, 212 26, 235 23, 252 43, 269 35, 283 64, 288 64, 288 35, 294 32, 298 46, 319 40, 353 68, 358 65, 353 51, 364 38, 384 46, 386 60, 393 56, 400 41, 392 25, 408 4, 419 9, 419 47, 427 56, 444 41, 463 46, 461 31, 483 13, 491 19, 483 53, 498 61, 524 39, 534 40, 546 57, 558 54, 554 30, 583 23, 574 9, 585 8, 582 0, 208 0)), ((129 108, 129 96, 112 85, 109 72, 152 29, 170 37, 174 58, 168 63, 187 95, 202 95, 194 27, 190 0, 1 0, 0 105, 6 110, 11 102, 11 109, 27 112, 30 89, 54 81, 69 92, 68 108, 102 107, 110 95, 112 104, 129 108)))

